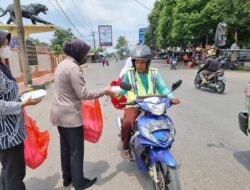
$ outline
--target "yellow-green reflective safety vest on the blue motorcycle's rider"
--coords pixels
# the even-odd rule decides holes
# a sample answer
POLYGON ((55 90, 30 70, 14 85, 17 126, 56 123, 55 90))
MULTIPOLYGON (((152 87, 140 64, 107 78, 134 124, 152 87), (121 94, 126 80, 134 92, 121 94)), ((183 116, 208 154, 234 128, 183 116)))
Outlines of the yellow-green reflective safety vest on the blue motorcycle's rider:
POLYGON ((148 72, 148 92, 146 92, 141 78, 137 71, 134 68, 128 70, 128 79, 129 83, 132 86, 132 90, 128 91, 127 102, 132 102, 138 96, 147 96, 147 95, 158 95, 159 92, 156 89, 156 80, 158 75, 158 69, 150 68, 148 72), (137 95, 136 95, 137 94, 137 95))

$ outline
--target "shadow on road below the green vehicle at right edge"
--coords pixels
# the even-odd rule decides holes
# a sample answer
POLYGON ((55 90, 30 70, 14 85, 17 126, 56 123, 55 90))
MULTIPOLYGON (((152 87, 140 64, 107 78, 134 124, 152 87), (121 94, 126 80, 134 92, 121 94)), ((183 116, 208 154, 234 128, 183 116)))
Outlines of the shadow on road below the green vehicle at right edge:
POLYGON ((233 152, 234 158, 240 164, 242 164, 248 171, 250 171, 250 150, 238 152, 230 147, 226 147, 223 143, 220 143, 218 145, 211 143, 211 144, 207 144, 207 147, 223 148, 223 149, 230 150, 231 152, 233 152))

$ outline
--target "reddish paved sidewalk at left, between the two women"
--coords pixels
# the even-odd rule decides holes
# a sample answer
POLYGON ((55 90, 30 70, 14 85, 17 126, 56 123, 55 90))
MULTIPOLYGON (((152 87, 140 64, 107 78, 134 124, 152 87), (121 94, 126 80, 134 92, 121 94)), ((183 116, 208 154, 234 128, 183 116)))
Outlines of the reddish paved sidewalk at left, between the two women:
POLYGON ((46 89, 48 85, 54 82, 54 73, 40 76, 32 79, 32 85, 25 86, 24 82, 18 83, 19 92, 25 93, 36 89, 46 89))

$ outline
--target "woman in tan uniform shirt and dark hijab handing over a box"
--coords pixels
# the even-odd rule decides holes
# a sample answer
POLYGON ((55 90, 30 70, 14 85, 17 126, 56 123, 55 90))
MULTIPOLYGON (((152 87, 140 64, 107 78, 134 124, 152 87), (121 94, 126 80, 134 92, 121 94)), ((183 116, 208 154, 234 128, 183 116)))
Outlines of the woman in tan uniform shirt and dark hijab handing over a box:
POLYGON ((72 183, 76 190, 86 189, 97 180, 83 175, 82 100, 112 95, 111 87, 87 90, 81 65, 86 63, 89 49, 89 45, 79 39, 64 43, 63 50, 67 57, 55 72, 55 97, 50 115, 51 123, 57 126, 60 134, 63 186, 72 183))

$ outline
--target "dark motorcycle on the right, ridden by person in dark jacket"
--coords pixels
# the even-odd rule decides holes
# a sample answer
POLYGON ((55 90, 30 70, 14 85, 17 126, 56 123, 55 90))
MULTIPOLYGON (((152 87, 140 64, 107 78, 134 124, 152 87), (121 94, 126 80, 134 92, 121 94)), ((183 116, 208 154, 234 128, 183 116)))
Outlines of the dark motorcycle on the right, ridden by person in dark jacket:
POLYGON ((200 89, 201 87, 204 88, 208 88, 208 89, 212 89, 215 92, 217 92, 218 94, 222 94, 225 90, 225 86, 226 86, 226 78, 224 77, 224 70, 223 69, 219 69, 216 72, 212 72, 211 74, 209 74, 208 76, 206 76, 207 79, 207 83, 205 84, 201 84, 202 83, 202 79, 200 77, 200 72, 204 70, 204 66, 201 67, 197 74, 196 77, 194 79, 194 85, 197 89, 200 89))

